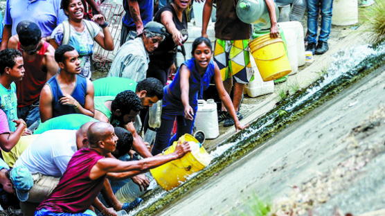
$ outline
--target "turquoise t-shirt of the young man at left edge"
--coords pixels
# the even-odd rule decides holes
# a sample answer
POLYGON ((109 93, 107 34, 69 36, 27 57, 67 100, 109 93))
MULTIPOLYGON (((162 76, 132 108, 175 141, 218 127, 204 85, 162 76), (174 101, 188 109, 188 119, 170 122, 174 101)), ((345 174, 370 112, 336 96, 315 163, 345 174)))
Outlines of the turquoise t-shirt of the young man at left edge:
POLYGON ((6 89, 0 84, 0 108, 6 113, 8 118, 8 125, 10 132, 15 132, 16 123, 12 120, 17 120, 17 95, 16 95, 16 84, 12 82, 10 89, 6 89))

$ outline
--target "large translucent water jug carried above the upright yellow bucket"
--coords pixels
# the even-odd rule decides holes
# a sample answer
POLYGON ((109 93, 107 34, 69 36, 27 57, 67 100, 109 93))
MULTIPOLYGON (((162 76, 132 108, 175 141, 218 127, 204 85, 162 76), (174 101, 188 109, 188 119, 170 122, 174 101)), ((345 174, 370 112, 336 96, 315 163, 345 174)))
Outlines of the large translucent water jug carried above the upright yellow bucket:
MULTIPOLYGON (((236 7, 238 18, 247 24, 256 24, 257 28, 270 28, 270 16, 265 0, 240 0, 236 7)), ((276 6, 276 19, 278 20, 278 7, 276 6)))

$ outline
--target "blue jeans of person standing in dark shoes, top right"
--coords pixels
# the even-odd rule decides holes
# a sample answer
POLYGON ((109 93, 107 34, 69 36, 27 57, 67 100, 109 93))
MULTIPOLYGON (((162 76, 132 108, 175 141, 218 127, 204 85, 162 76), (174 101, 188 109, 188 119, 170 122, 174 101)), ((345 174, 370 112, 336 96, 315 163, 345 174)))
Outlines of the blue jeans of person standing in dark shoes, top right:
POLYGON ((328 42, 332 28, 333 0, 307 0, 307 30, 309 43, 316 44, 318 30, 318 13, 321 9, 321 31, 318 41, 328 42), (321 5, 320 5, 321 4, 321 5))

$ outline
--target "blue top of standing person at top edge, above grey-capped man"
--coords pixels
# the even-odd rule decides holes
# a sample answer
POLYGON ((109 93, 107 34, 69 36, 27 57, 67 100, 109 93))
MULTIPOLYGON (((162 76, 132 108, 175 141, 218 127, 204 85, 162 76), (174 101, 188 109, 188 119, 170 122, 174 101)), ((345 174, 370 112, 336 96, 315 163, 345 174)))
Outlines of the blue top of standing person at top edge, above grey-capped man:
MULTIPOLYGON (((139 12, 141 13, 141 19, 143 26, 152 20, 154 16, 154 3, 152 0, 138 0, 139 12)), ((123 24, 128 27, 136 27, 134 20, 129 12, 128 1, 123 0, 123 7, 125 8, 125 16, 123 17, 123 24)))

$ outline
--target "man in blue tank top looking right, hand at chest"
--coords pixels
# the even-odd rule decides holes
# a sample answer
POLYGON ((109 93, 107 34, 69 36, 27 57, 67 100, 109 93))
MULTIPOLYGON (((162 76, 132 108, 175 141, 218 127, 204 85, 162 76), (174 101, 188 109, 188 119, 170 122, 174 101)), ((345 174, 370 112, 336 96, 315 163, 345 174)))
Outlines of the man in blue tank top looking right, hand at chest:
POLYGON ((55 51, 60 73, 46 82, 40 93, 40 118, 44 121, 65 114, 93 117, 93 84, 79 73, 82 71, 78 51, 62 45, 55 51))

